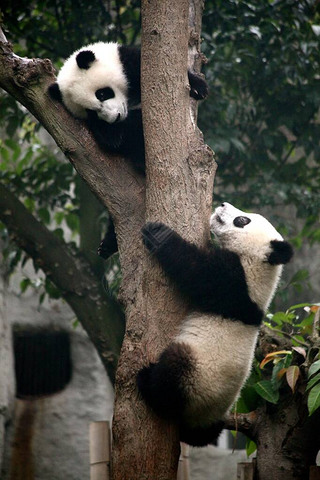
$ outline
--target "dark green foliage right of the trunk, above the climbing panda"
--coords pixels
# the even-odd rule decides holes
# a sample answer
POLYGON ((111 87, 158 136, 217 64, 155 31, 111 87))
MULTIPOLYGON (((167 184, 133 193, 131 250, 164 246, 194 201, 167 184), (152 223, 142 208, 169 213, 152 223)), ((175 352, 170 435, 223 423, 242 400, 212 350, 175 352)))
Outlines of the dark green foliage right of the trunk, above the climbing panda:
MULTIPOLYGON (((203 50, 211 100, 199 123, 217 153, 218 196, 320 208, 320 15, 317 2, 206 2, 203 50), (234 193, 233 193, 234 192, 234 193)), ((216 185, 217 185, 216 181, 216 185)))

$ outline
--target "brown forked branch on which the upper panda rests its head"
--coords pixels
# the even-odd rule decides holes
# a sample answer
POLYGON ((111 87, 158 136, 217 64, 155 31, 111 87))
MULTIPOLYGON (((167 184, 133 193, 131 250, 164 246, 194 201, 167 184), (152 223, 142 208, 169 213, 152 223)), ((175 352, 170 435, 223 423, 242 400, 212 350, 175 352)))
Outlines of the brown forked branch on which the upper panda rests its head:
POLYGON ((144 222, 144 178, 116 155, 105 155, 83 122, 47 94, 54 82, 49 60, 24 59, 0 43, 0 86, 20 101, 52 135, 80 176, 108 207, 118 237, 124 302, 135 301, 140 275, 144 222))

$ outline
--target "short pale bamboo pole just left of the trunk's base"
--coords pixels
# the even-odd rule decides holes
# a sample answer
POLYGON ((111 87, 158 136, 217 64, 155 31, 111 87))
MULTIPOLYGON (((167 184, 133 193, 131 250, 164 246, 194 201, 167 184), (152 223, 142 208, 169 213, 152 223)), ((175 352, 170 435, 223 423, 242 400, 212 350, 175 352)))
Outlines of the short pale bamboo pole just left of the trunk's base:
POLYGON ((110 480, 109 422, 92 422, 89 431, 90 480, 110 480))

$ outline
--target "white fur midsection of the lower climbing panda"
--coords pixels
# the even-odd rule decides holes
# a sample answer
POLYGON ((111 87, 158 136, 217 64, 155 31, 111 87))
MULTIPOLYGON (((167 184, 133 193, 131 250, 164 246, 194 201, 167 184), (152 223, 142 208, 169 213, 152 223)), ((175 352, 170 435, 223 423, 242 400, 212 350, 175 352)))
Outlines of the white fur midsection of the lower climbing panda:
POLYGON ((190 426, 221 420, 239 396, 252 365, 258 328, 219 316, 193 313, 184 321, 177 342, 192 349, 195 375, 184 377, 190 426))

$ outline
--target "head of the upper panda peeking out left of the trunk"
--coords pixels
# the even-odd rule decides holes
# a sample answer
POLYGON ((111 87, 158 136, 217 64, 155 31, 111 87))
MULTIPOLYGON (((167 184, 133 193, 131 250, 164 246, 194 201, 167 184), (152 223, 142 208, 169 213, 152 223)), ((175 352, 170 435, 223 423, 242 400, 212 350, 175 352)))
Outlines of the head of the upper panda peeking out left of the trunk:
POLYGON ((128 115, 128 84, 118 44, 98 42, 74 52, 49 93, 75 117, 85 119, 91 111, 107 123, 124 120, 128 115))

